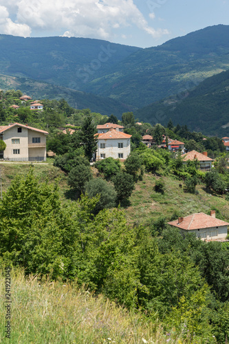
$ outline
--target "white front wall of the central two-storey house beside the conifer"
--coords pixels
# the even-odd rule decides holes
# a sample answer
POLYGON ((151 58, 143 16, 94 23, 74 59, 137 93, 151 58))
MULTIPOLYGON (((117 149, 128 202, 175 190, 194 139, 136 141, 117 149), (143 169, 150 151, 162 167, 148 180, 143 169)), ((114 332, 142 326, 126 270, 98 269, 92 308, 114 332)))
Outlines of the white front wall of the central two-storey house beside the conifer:
POLYGON ((129 138, 98 140, 97 160, 101 159, 100 154, 105 154, 105 158, 111 157, 118 159, 118 153, 123 153, 123 158, 120 158, 121 160, 127 159, 131 153, 131 140, 129 138), (101 143, 105 143, 105 148, 100 148, 101 143), (118 148, 118 143, 122 143, 123 148, 118 148))

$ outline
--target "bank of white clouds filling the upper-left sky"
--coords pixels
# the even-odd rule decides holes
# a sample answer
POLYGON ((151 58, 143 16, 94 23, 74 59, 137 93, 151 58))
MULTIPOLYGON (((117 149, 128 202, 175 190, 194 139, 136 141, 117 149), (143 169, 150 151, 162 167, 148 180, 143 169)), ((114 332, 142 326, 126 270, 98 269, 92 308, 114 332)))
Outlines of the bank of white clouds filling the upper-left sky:
MULTIPOLYGON (((111 40, 117 30, 133 26, 153 38, 168 33, 151 28, 133 0, 9 0, 7 4, 0 0, 1 12, 0 23, 2 17, 5 20, 1 32, 18 31, 21 36, 28 36, 30 30, 32 34, 43 30, 50 36, 62 30, 63 36, 111 40)), ((153 13, 149 17, 153 19, 153 13)))

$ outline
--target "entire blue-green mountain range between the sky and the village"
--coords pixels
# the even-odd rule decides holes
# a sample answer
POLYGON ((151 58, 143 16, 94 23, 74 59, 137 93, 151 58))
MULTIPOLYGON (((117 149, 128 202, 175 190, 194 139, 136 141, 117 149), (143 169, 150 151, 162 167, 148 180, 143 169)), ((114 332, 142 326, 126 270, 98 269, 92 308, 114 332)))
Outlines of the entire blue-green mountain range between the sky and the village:
MULTIPOLYGON (((119 118, 124 111, 135 111, 140 120, 148 122, 164 122, 167 110, 173 109, 170 117, 175 122, 179 118, 194 129, 202 129, 205 120, 193 122, 189 115, 181 114, 182 106, 195 98, 192 92, 200 91, 201 81, 228 67, 229 25, 210 26, 146 49, 97 39, 0 35, 2 89, 16 82, 17 88, 36 94, 36 98, 61 96, 72 106, 119 118), (169 105, 166 110, 164 104, 169 105)), ((221 83, 221 76, 212 80, 221 83)), ((222 93, 214 96, 219 95, 222 93)), ((201 104, 204 114, 205 103, 201 104)), ((221 119, 218 115, 216 122, 212 118, 215 127, 212 122, 206 126, 208 130, 226 125, 223 107, 219 113, 221 119)))

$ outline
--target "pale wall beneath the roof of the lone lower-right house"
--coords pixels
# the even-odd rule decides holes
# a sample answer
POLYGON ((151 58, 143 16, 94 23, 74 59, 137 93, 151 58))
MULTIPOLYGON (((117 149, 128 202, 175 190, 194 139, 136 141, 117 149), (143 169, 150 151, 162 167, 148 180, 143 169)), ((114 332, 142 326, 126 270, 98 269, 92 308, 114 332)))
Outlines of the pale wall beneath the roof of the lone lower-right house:
POLYGON ((219 226, 195 230, 184 230, 181 229, 182 233, 195 233, 197 237, 200 237, 201 240, 215 240, 215 239, 226 239, 228 235, 228 226, 219 226))

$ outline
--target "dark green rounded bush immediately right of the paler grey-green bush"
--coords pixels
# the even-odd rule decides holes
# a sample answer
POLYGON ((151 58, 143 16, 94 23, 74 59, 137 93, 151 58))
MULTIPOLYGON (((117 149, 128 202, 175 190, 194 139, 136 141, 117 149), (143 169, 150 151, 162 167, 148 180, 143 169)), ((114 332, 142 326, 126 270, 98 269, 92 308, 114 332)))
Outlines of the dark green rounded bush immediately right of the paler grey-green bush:
POLYGON ((114 184, 118 200, 128 200, 135 188, 133 175, 125 172, 120 172, 112 178, 112 182, 114 184))

